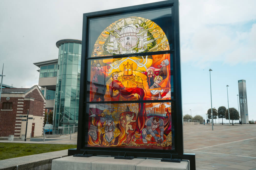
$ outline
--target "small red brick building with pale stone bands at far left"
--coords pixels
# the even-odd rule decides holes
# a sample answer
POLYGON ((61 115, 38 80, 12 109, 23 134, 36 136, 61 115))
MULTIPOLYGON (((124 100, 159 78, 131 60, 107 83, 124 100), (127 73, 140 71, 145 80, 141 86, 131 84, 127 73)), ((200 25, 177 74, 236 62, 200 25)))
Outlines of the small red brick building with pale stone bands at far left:
POLYGON ((27 138, 43 134, 45 117, 45 98, 37 85, 31 88, 3 88, 0 101, 0 137, 21 138, 25 135, 27 110, 28 120, 27 138))

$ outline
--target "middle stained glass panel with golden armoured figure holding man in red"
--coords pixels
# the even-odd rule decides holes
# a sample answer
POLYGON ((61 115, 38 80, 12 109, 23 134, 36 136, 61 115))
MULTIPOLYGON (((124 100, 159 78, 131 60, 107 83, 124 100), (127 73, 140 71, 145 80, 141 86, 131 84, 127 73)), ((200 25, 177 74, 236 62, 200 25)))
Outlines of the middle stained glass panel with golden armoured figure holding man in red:
POLYGON ((170 100, 172 65, 170 54, 88 60, 87 101, 170 100))

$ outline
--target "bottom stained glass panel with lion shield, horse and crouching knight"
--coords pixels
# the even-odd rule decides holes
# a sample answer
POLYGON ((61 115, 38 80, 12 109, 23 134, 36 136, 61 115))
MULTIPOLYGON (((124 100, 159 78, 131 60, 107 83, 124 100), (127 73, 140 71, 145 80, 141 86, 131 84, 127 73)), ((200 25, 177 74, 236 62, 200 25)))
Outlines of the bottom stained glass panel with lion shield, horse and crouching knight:
POLYGON ((91 147, 172 149, 171 103, 88 104, 91 147))

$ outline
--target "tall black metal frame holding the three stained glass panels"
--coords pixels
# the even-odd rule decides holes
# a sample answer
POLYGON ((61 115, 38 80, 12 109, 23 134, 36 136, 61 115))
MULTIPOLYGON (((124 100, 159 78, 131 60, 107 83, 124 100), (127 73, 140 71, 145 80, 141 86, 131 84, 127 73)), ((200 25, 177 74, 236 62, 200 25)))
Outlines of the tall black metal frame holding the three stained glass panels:
MULTIPOLYGON (((170 44, 170 43, 169 43, 170 44)), ((82 33, 82 54, 81 54, 81 79, 80 79, 80 101, 79 101, 79 122, 78 122, 78 138, 77 149, 69 149, 68 155, 80 154, 76 156, 90 156, 90 155, 111 155, 111 156, 128 156, 128 157, 140 157, 140 158, 164 158, 163 161, 177 161, 174 159, 190 160, 190 169, 195 169, 195 154, 184 154, 183 147, 183 115, 182 115, 182 91, 181 91, 181 67, 180 67, 180 34, 179 34, 179 2, 178 0, 168 0, 157 3, 149 3, 143 5, 130 6, 125 8, 117 8, 111 10, 91 12, 83 14, 83 33, 82 33), (162 52, 150 52, 140 54, 126 54, 115 56, 103 56, 103 57, 89 57, 88 56, 88 41, 89 41, 89 20, 93 18, 104 18, 107 16, 129 14, 138 11, 150 11, 155 9, 171 8, 172 10, 172 38, 169 40, 172 42, 172 49, 162 52), (172 54, 173 55, 173 80, 174 80, 174 96, 173 100, 166 102, 172 103, 172 127, 174 126, 174 149, 172 150, 153 150, 153 149, 134 149, 134 148, 102 148, 102 147, 84 147, 85 139, 88 135, 88 124, 86 123, 86 115, 88 103, 87 102, 87 66, 88 60, 102 59, 102 58, 121 58, 130 56, 145 56, 154 54, 172 54)), ((101 102, 101 103, 119 103, 115 102, 101 102)), ((130 102, 159 102, 159 100, 150 101, 125 101, 130 102)), ((165 102, 165 100, 161 100, 165 102)), ((173 133, 173 128, 172 128, 173 133)), ((179 161, 179 160, 178 160, 179 161)))

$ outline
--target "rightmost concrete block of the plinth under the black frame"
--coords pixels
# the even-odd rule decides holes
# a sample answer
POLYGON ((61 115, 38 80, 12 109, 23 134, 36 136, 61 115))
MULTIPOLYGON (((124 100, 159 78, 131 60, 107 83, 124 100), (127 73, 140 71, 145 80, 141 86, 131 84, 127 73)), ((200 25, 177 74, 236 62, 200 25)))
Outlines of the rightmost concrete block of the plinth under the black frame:
POLYGON ((181 161, 177 162, 161 162, 161 159, 146 159, 141 163, 137 164, 136 170, 175 170, 184 169, 188 170, 188 162, 181 161))

